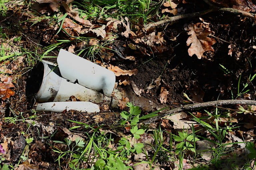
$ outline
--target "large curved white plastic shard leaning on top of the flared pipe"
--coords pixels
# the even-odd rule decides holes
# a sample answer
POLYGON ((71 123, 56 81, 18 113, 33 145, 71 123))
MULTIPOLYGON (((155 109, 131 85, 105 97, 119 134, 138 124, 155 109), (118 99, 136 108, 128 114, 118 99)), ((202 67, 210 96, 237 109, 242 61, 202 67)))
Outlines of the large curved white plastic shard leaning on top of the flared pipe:
POLYGON ((63 78, 111 96, 116 80, 114 72, 64 49, 60 49, 57 63, 63 78))

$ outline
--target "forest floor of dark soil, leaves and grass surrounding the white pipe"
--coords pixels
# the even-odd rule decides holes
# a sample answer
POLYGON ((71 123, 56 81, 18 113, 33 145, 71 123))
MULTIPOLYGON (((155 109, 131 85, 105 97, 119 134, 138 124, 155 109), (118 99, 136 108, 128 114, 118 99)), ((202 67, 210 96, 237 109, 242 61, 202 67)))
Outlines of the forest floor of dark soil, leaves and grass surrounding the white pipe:
POLYGON ((255 4, 0 1, 0 168, 255 169, 255 4), (118 107, 36 111, 32 68, 60 49, 113 71, 118 107))

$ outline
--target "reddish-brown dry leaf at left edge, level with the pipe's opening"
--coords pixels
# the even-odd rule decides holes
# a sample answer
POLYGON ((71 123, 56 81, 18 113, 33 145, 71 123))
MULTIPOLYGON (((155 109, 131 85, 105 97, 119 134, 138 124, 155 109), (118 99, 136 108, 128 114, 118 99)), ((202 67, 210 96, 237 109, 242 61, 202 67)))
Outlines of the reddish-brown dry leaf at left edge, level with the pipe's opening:
POLYGON ((10 98, 15 94, 15 92, 10 89, 12 87, 15 86, 12 84, 11 77, 7 77, 3 82, 0 82, 0 97, 2 100, 10 98))

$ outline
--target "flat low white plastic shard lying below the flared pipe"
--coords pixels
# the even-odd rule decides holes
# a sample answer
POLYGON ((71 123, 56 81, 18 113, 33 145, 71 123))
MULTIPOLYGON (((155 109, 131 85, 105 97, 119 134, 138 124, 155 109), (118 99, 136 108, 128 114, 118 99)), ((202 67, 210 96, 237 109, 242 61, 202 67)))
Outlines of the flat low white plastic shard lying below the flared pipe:
POLYGON ((81 111, 87 113, 100 112, 98 105, 92 102, 48 102, 40 103, 36 107, 36 111, 40 112, 63 112, 64 110, 81 111))

